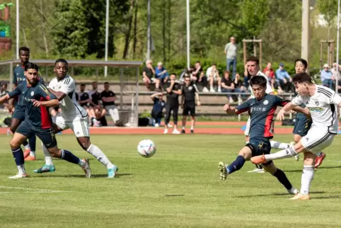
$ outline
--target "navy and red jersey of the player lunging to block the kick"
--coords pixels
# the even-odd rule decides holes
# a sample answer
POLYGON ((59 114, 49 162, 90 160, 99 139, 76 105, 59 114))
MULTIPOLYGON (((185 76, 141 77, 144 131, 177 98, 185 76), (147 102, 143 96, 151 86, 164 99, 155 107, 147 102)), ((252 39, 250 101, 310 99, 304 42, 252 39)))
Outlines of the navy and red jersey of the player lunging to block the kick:
POLYGON ((279 96, 265 94, 261 100, 250 98, 236 108, 239 113, 249 112, 250 122, 250 139, 268 138, 272 139, 273 129, 272 122, 274 112, 277 106, 285 106, 289 101, 284 101, 279 96))

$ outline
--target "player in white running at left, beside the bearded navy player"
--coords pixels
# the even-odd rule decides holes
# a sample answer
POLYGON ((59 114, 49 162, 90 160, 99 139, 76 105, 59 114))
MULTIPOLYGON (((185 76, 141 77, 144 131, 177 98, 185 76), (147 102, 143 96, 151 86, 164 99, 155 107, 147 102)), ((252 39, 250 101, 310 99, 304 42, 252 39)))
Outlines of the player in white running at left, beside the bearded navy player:
MULTIPOLYGON (((114 178, 117 167, 109 161, 102 150, 90 142, 88 113, 76 101, 76 84, 74 83, 74 79, 67 75, 67 70, 67 61, 65 59, 58 59, 54 64, 56 77, 49 84, 50 91, 57 96, 60 108, 62 109, 62 113, 54 117, 54 132, 57 133, 71 128, 81 147, 107 167, 108 178, 114 178)), ((50 159, 45 150, 45 147, 43 147, 45 165, 35 170, 36 173, 45 173, 54 171, 55 169, 52 164, 52 159, 50 159)))

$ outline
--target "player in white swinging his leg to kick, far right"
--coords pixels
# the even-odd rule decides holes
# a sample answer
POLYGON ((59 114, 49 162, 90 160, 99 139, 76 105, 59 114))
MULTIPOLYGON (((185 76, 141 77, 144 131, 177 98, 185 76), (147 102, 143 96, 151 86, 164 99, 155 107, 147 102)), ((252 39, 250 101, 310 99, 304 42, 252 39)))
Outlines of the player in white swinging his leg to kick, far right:
POLYGON ((311 76, 306 73, 295 74, 292 81, 295 84, 296 92, 299 93, 296 98, 287 103, 279 111, 277 119, 283 120, 284 114, 292 108, 304 103, 306 114, 313 120, 308 134, 289 148, 274 154, 255 156, 251 161, 255 164, 264 163, 274 159, 284 159, 296 154, 304 153, 304 169, 301 178, 301 190, 291 200, 308 200, 309 188, 314 175, 314 160, 316 154, 322 149, 332 144, 335 135, 337 135, 337 108, 341 107, 341 97, 335 91, 313 84, 311 76))

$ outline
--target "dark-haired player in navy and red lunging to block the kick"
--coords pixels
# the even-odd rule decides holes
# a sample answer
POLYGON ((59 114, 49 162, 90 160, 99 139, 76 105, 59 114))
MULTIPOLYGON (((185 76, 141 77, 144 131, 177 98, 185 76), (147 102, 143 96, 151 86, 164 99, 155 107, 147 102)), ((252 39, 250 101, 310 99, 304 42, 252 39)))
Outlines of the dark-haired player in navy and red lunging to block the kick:
MULTIPOLYGON (((265 93, 267 79, 262 76, 254 76, 250 79, 250 85, 253 89, 255 98, 250 98, 240 106, 231 108, 229 105, 224 106, 224 111, 231 114, 240 114, 248 111, 250 113, 250 142, 246 144, 239 152, 235 161, 230 165, 219 162, 219 171, 221 180, 225 180, 231 173, 238 171, 243 167, 246 160, 250 160, 252 156, 259 154, 270 154, 272 139, 272 122, 274 111, 277 106, 284 106, 287 101, 284 101, 278 96, 265 93)), ((296 108, 297 111, 304 112, 303 108, 296 108)), ((291 194, 298 193, 288 180, 285 173, 277 169, 272 161, 262 162, 265 170, 275 176, 280 183, 287 188, 291 194)))

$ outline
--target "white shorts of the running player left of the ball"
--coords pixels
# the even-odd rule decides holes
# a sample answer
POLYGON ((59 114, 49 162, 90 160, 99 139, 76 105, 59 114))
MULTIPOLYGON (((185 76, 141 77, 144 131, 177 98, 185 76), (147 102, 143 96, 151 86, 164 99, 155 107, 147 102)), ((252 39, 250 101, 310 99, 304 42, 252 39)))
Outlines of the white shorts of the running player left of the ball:
POLYGON ((88 117, 76 117, 71 121, 67 121, 62 113, 58 113, 58 115, 53 117, 53 122, 62 130, 71 128, 76 137, 90 137, 88 117))

